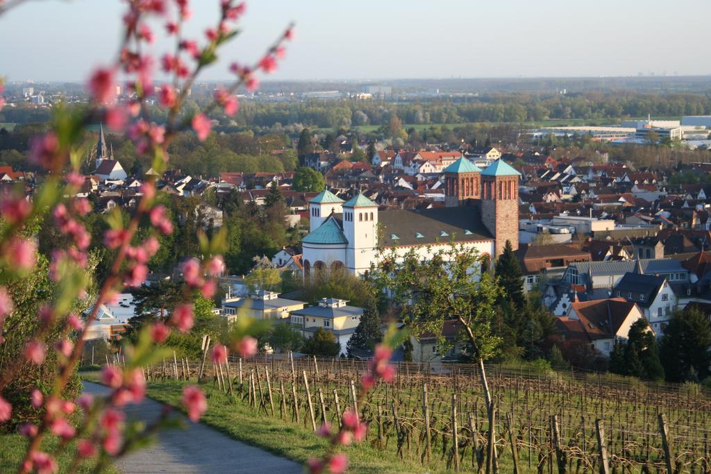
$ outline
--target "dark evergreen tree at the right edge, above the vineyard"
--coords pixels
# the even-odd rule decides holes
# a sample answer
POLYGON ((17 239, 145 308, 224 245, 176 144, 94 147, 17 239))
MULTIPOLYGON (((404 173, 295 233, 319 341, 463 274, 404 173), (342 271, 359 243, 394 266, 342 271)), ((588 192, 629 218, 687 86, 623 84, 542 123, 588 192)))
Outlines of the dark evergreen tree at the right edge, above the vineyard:
POLYGON ((711 324, 695 308, 675 311, 661 339, 661 360, 669 382, 698 382, 709 375, 711 324))

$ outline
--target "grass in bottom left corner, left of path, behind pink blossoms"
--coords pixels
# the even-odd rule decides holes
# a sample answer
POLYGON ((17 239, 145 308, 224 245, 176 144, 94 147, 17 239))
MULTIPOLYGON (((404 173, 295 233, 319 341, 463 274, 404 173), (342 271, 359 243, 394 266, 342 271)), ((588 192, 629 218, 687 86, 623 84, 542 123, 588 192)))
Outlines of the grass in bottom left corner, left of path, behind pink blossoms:
MULTIPOLYGON (((45 436, 42 443, 43 451, 52 453, 58 446, 59 440, 56 436, 45 436)), ((19 434, 0 435, 0 473, 14 473, 22 462, 27 448, 27 439, 19 434)), ((58 472, 67 473, 74 459, 74 445, 64 448, 57 458, 59 466, 58 472)), ((77 473, 94 472, 94 464, 87 460, 80 464, 77 473)), ((102 473, 118 473, 114 467, 109 466, 102 470, 102 473)))

